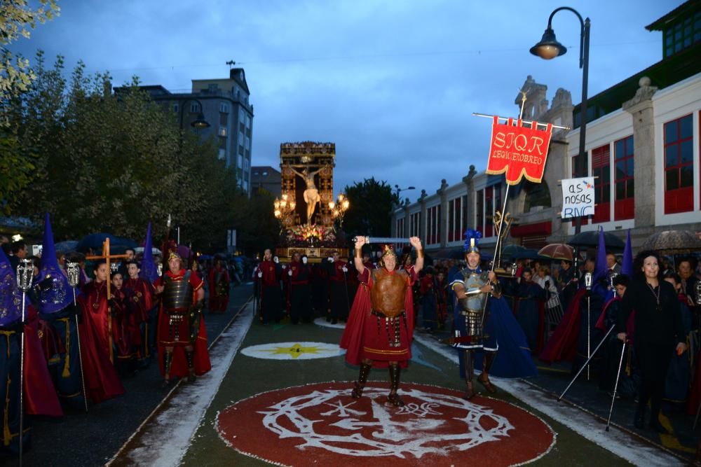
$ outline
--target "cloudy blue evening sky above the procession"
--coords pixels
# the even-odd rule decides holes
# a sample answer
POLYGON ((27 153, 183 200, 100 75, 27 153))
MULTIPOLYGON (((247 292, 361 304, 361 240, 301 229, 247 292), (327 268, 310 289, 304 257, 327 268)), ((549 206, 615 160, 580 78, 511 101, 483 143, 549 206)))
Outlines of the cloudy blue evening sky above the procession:
MULTIPOLYGON (((580 102, 580 25, 555 15, 568 53, 529 53, 558 6, 592 21, 589 95, 662 58, 662 34, 644 27, 681 0, 625 1, 151 1, 64 0, 61 13, 11 50, 64 55, 109 71, 114 85, 139 76, 171 91, 243 67, 254 105, 252 165, 279 167, 283 141, 336 143, 336 193, 375 176, 411 200, 441 179, 486 165, 489 120, 516 116, 527 75, 580 102)), ((653 83, 654 85, 655 83, 653 83)))

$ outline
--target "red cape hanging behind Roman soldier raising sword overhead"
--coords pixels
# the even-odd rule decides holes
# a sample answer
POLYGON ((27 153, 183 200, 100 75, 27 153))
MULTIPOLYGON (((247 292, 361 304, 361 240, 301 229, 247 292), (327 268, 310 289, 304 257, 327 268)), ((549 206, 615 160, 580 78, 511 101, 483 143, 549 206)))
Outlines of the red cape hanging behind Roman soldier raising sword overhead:
MULTIPOLYGON (((369 272, 369 270, 368 270, 369 272)), ((410 276, 411 277, 411 276, 410 276)), ((346 329, 341 336, 341 349, 346 349, 346 361, 351 365, 360 365, 362 357, 362 335, 365 329, 365 320, 369 319, 372 306, 370 305, 370 289, 361 281, 358 292, 355 293, 351 314, 348 316, 346 329)), ((404 312, 407 314, 407 335, 409 337, 409 358, 411 358, 411 341, 414 339, 414 299, 411 297, 411 281, 404 295, 404 312)), ((400 361, 402 368, 407 368, 409 360, 400 361)), ((386 361, 373 361, 374 368, 387 368, 386 361)))

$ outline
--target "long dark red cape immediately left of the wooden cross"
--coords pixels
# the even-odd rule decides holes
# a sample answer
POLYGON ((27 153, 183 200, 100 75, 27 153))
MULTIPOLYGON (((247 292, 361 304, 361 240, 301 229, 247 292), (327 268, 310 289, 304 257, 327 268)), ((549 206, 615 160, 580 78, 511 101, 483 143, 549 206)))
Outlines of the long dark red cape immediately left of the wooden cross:
POLYGON ((107 285, 92 281, 78 297, 83 314, 80 326, 83 375, 88 398, 102 402, 124 393, 124 387, 110 361, 111 334, 107 309, 107 285))

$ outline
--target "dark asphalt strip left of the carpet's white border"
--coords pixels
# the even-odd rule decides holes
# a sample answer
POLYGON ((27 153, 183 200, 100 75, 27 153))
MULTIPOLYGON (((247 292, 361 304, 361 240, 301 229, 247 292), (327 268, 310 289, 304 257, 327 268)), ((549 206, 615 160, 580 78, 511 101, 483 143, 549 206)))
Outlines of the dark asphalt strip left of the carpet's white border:
MULTIPOLYGON (((233 287, 224 314, 205 311, 207 340, 222 332, 233 314, 252 295, 252 286, 233 287)), ((33 417, 32 442, 23 456, 25 466, 102 466, 170 391, 161 389, 161 373, 154 362, 137 375, 122 379, 123 396, 90 406, 88 414, 64 405, 64 417, 33 417)), ((0 465, 16 466, 17 457, 2 457, 0 465)))

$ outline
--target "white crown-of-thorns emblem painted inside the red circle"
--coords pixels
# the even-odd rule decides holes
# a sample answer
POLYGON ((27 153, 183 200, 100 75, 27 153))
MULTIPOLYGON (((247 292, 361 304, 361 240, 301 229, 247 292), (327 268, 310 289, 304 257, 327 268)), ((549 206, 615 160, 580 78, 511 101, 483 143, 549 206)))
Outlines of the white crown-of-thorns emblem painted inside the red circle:
POLYGON ((259 413, 280 439, 304 440, 298 449, 319 447, 347 456, 447 456, 508 437, 514 429, 506 417, 458 396, 412 388, 401 391, 407 405, 397 409, 386 405, 387 389, 368 386, 359 400, 349 393, 348 388, 311 391, 259 413), (306 411, 317 406, 329 410, 306 411), (303 412, 313 412, 315 419, 303 412))

